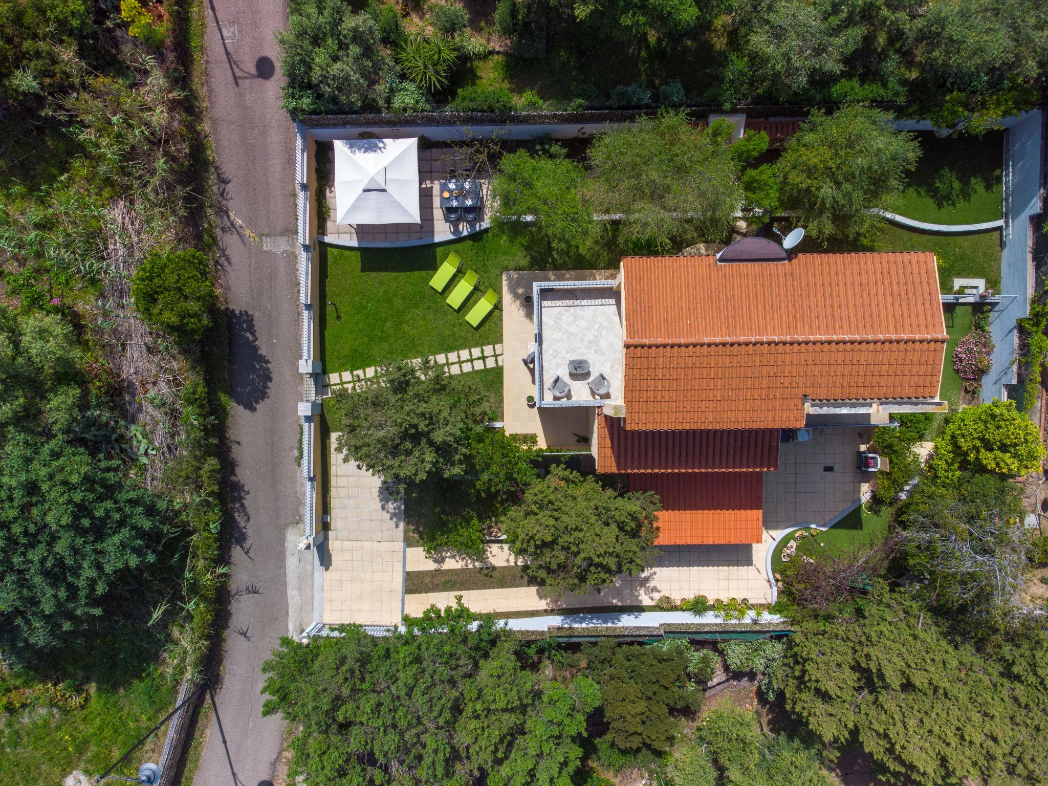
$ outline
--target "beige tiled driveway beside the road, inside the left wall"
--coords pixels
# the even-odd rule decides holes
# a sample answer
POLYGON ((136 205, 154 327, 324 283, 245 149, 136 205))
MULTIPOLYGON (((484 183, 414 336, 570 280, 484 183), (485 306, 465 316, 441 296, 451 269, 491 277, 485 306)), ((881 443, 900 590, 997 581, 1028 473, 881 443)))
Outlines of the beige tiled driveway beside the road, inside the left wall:
POLYGON ((324 560, 324 621, 394 625, 403 596, 403 503, 334 451, 324 560))

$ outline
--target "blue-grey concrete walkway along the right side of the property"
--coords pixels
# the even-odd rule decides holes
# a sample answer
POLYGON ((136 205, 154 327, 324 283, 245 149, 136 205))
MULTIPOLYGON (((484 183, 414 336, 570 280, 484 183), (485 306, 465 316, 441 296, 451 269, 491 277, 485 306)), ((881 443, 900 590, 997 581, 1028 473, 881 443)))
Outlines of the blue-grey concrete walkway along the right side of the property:
MULTIPOLYGON (((1010 198, 1005 200, 1005 226, 1001 247, 1001 304, 990 312, 994 336, 994 365, 983 377, 979 400, 1003 399, 1006 385, 1017 379, 1016 320, 1029 313, 1033 290, 1033 245, 1030 217, 1041 212, 1041 179, 1044 169, 1042 138, 1043 112, 1027 112, 1005 121, 1008 131, 1009 172, 1004 173, 1005 188, 1010 182, 1010 198)), ((947 358, 948 363, 948 358, 947 358)))

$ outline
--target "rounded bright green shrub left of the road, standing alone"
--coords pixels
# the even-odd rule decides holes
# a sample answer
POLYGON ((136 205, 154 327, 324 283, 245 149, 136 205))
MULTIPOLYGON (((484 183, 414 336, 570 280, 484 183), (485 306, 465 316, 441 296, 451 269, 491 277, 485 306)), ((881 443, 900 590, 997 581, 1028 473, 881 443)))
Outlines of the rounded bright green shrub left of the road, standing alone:
POLYGON ((208 257, 193 248, 151 255, 134 272, 131 297, 150 324, 181 341, 199 341, 215 305, 208 257))

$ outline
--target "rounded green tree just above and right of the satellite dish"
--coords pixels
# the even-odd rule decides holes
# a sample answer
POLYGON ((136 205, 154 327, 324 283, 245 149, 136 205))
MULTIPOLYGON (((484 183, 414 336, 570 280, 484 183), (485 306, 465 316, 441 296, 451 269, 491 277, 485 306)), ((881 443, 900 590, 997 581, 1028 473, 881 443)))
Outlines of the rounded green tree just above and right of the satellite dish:
POLYGON ((913 134, 896 131, 879 109, 816 110, 779 159, 782 206, 817 240, 860 240, 878 223, 869 210, 901 193, 919 154, 913 134))

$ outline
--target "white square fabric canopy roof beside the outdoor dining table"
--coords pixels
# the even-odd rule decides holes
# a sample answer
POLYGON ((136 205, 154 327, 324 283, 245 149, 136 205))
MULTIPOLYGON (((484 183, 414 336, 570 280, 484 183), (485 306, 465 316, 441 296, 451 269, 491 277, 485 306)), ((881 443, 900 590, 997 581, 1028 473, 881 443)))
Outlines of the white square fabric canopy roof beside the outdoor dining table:
POLYGON ((341 224, 418 224, 418 139, 340 139, 334 200, 341 224))

